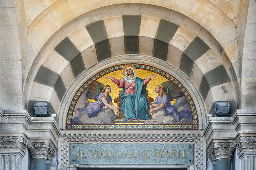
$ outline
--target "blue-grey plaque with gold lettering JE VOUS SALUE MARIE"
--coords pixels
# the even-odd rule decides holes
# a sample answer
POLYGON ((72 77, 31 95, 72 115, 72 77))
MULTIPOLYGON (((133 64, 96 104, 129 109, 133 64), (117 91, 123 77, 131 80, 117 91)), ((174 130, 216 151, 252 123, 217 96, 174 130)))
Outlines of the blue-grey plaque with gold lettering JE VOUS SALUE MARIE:
POLYGON ((194 144, 70 143, 70 164, 194 164, 194 144))

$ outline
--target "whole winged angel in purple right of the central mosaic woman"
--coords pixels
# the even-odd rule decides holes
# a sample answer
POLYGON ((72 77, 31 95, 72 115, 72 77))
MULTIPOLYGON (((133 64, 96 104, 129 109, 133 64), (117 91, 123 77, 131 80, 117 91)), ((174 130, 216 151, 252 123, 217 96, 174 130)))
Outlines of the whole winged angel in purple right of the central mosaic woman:
POLYGON ((157 85, 155 92, 158 93, 155 103, 150 103, 154 108, 149 110, 149 115, 154 110, 160 110, 164 108, 166 115, 173 115, 175 120, 179 122, 182 118, 192 119, 192 114, 189 110, 177 111, 177 108, 170 102, 178 97, 182 97, 182 92, 177 86, 174 86, 172 82, 167 81, 161 85, 157 85))

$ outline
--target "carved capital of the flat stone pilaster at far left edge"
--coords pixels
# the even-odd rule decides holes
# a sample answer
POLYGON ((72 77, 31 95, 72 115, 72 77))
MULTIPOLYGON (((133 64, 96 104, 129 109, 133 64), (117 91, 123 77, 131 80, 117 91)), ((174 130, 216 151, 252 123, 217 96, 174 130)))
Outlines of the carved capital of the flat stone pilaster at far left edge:
POLYGON ((27 142, 21 136, 0 137, 0 152, 19 152, 24 156, 27 142))

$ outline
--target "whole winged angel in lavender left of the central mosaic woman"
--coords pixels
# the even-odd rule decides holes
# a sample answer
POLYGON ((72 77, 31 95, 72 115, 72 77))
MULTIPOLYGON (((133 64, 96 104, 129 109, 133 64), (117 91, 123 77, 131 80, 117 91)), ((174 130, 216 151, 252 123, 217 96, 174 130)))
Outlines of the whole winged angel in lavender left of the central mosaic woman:
POLYGON ((104 86, 98 81, 92 83, 86 97, 94 99, 96 102, 89 103, 86 108, 78 108, 76 110, 78 112, 88 112, 89 118, 97 116, 105 106, 109 109, 115 110, 116 113, 119 113, 117 107, 112 103, 112 98, 109 93, 111 93, 109 85, 104 86))

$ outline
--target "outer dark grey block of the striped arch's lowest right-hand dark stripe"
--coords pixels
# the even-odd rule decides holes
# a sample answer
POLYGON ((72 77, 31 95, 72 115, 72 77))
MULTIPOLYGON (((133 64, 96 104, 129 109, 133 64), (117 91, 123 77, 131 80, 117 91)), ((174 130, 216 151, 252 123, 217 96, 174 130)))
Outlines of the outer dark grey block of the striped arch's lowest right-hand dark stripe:
POLYGON ((220 65, 204 74, 210 87, 231 81, 223 65, 220 65))

